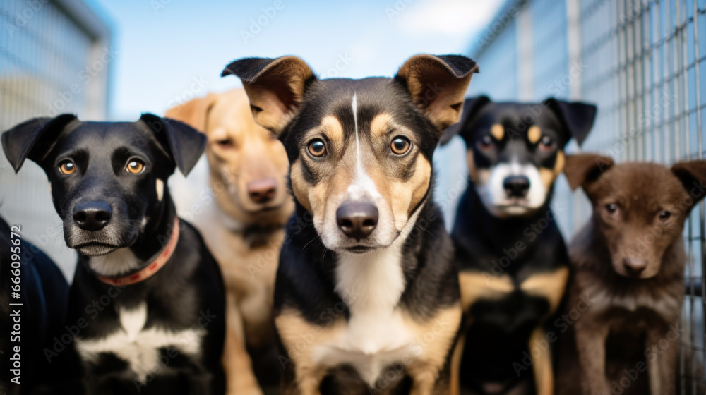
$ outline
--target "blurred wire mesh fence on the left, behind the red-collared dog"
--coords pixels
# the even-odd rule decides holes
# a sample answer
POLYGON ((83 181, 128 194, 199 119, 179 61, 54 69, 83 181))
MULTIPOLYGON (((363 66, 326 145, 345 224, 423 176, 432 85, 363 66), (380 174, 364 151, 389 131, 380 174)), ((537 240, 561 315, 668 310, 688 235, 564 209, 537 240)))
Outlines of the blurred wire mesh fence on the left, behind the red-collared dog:
MULTIPOLYGON (((0 1, 0 31, 0 130, 66 112, 104 118, 109 30, 81 1, 0 1)), ((27 161, 16 176, 0 155, 0 214, 73 276, 76 255, 39 166, 27 161)))

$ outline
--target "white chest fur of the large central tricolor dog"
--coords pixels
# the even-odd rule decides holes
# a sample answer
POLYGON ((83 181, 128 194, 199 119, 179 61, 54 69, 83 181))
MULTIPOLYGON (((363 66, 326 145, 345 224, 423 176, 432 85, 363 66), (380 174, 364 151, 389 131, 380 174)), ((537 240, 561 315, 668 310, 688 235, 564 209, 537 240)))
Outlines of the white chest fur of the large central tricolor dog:
POLYGON ((373 387, 384 367, 416 356, 414 331, 396 308, 405 289, 400 259, 400 247, 395 245, 340 257, 336 291, 350 318, 333 339, 313 350, 316 363, 352 365, 373 387))

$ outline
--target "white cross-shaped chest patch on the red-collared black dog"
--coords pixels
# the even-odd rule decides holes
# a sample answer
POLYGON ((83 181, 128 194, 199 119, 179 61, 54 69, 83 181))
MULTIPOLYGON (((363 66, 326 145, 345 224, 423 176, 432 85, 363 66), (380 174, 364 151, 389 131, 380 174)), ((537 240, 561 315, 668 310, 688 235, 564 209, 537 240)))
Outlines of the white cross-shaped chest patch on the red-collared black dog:
POLYGON ((138 382, 145 382, 147 375, 158 372, 164 363, 160 348, 173 348, 177 353, 197 356, 201 351, 203 329, 179 332, 150 327, 147 322, 147 304, 141 303, 133 310, 120 308, 120 327, 102 339, 76 339, 78 352, 83 360, 96 360, 100 353, 112 353, 125 360, 136 373, 138 382))

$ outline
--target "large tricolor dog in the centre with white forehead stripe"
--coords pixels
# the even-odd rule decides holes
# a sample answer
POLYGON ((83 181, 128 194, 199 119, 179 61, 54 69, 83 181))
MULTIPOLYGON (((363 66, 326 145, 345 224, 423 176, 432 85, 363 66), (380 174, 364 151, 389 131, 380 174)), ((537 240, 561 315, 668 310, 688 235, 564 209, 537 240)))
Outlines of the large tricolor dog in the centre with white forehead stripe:
POLYGON ((395 78, 319 80, 294 56, 225 69, 289 157, 285 394, 448 394, 460 295, 431 159, 475 71, 455 55, 413 56, 395 78))

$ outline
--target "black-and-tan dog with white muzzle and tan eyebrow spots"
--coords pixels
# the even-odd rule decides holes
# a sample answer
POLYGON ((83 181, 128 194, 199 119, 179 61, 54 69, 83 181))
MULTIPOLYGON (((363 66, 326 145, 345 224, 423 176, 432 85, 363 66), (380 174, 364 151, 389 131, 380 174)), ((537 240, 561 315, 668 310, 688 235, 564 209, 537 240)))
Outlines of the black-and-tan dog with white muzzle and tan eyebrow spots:
POLYGON ((570 138, 584 140, 596 107, 487 97, 467 99, 464 107, 463 120, 442 138, 465 140, 470 179, 451 233, 467 317, 454 356, 461 387, 531 394, 534 379, 537 394, 550 395, 543 325, 561 303, 569 260, 549 202, 563 147, 570 138))

